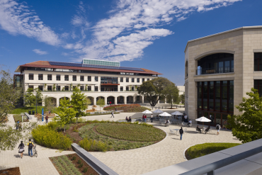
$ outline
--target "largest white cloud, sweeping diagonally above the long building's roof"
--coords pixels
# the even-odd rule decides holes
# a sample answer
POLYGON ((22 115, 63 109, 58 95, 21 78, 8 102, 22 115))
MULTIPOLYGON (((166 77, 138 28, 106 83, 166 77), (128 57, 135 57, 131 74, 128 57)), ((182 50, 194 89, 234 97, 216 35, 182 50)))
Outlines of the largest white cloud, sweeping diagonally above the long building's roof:
MULTIPOLYGON (((120 0, 109 17, 91 28, 93 38, 66 45, 83 58, 132 61, 157 38, 171 35, 164 29, 171 21, 183 21, 194 12, 205 12, 241 0, 120 0), (160 28, 161 26, 161 28, 160 28)), ((73 18, 77 25, 81 18, 73 18)), ((83 35, 83 34, 82 34, 83 35)), ((85 35, 84 35, 85 36, 85 35)), ((84 37, 83 37, 84 38, 84 37)))

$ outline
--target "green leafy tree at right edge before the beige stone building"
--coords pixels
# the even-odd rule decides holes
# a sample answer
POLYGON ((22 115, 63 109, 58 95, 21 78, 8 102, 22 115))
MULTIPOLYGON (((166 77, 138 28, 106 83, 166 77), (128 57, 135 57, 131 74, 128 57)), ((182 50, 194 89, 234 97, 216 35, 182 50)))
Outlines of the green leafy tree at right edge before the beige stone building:
POLYGON ((262 97, 254 88, 247 92, 249 98, 243 98, 236 108, 242 115, 228 115, 227 123, 232 128, 232 133, 242 143, 251 142, 262 138, 262 97))

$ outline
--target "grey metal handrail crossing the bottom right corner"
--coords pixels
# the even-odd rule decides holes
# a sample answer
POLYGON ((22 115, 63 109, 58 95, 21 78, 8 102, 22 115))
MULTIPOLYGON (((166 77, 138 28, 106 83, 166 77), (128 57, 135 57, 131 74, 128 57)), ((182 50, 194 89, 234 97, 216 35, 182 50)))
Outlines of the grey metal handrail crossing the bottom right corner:
POLYGON ((201 166, 197 169, 193 169, 190 171, 187 171, 181 175, 202 175, 202 174, 206 174, 207 175, 215 175, 215 169, 220 169, 224 166, 227 166, 229 164, 233 164, 234 162, 238 162, 242 159, 246 159, 247 157, 251 157, 255 154, 258 154, 262 152, 262 146, 261 147, 256 147, 254 149, 250 149, 249 151, 246 152, 241 152, 240 154, 236 154, 232 157, 227 157, 225 159, 219 160, 217 162, 213 162, 211 164, 207 164, 205 166, 201 166))

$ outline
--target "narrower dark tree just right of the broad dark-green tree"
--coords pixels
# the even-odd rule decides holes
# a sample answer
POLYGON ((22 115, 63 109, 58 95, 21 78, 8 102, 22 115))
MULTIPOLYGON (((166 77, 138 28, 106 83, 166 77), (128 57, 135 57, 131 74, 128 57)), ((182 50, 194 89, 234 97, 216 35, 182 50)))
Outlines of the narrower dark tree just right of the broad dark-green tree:
POLYGON ((170 82, 170 84, 167 84, 163 91, 163 94, 166 96, 167 103, 171 104, 171 108, 173 107, 173 103, 178 102, 178 92, 179 90, 177 86, 172 82, 170 82))

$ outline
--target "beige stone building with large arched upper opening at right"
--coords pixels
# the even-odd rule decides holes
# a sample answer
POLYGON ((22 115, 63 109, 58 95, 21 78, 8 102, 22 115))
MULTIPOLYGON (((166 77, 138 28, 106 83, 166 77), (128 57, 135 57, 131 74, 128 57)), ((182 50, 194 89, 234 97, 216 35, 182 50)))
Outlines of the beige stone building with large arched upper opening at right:
POLYGON ((185 86, 185 112, 193 122, 205 116, 222 125, 228 114, 238 114, 234 106, 252 87, 262 94, 262 26, 188 41, 185 86))

